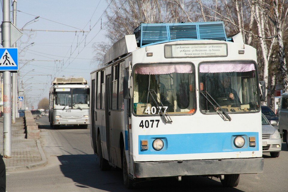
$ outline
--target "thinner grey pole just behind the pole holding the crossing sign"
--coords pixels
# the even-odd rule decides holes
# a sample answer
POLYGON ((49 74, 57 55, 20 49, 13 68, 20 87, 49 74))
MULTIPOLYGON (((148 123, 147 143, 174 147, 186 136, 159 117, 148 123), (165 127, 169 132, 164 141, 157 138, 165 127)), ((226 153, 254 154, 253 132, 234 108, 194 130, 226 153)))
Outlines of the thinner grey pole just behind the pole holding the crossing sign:
MULTIPOLYGON (((16 0, 13 1, 13 24, 16 26, 16 0)), ((16 43, 13 44, 16 47, 16 43)), ((12 123, 16 123, 16 117, 18 114, 17 110, 17 73, 12 73, 12 123)))

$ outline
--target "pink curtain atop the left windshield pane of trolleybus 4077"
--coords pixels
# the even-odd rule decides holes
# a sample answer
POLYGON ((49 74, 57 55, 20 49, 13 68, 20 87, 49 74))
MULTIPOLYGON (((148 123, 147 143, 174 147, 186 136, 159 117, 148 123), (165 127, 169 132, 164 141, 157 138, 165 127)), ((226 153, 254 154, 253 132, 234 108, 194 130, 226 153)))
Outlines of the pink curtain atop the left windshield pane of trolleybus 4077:
POLYGON ((147 64, 135 67, 135 73, 143 75, 193 73, 191 64, 147 64))

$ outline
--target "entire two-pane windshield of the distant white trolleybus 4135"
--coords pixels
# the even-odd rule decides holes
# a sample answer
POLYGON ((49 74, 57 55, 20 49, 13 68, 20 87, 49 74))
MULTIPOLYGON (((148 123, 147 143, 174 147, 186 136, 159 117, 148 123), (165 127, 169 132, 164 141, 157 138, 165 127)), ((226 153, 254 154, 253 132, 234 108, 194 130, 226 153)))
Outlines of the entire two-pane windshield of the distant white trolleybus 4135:
POLYGON ((89 109, 89 88, 55 88, 54 109, 89 109))

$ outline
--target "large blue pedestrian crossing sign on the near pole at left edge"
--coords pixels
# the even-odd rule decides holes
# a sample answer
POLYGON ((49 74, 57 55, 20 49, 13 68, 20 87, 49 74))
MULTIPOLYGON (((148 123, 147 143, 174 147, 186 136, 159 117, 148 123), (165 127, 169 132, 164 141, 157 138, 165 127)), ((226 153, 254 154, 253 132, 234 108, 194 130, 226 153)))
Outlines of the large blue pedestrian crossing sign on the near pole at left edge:
POLYGON ((18 70, 18 48, 0 48, 0 71, 18 70))

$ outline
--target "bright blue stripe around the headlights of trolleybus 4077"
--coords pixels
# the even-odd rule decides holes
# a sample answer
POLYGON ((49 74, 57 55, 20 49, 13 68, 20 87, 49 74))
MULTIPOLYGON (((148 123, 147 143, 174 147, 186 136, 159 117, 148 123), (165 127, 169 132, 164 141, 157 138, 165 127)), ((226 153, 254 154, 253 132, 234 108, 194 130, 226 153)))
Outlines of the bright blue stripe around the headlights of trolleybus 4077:
MULTIPOLYGON (((175 155, 194 153, 244 152, 259 150, 258 132, 231 132, 231 133, 197 133, 197 134, 170 134, 170 135, 139 135, 139 155, 175 155), (234 139, 242 136, 245 144, 236 148, 234 139), (256 137, 256 146, 249 146, 249 137, 256 137), (153 149, 155 139, 161 139, 164 147, 160 151, 153 149), (148 140, 148 149, 141 149, 141 140, 148 140)), ((262 146, 261 146, 262 147, 262 146)))

